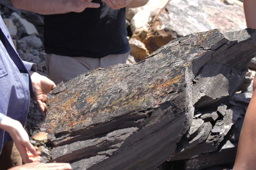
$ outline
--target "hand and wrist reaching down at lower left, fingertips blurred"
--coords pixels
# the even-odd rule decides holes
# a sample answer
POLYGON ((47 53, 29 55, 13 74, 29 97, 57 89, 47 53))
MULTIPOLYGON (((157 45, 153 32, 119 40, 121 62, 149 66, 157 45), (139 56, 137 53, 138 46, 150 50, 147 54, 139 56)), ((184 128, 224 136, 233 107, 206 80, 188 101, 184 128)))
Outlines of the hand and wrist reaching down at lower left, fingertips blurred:
POLYGON ((4 116, 0 128, 11 135, 24 163, 41 161, 41 153, 29 142, 28 133, 19 121, 4 116))

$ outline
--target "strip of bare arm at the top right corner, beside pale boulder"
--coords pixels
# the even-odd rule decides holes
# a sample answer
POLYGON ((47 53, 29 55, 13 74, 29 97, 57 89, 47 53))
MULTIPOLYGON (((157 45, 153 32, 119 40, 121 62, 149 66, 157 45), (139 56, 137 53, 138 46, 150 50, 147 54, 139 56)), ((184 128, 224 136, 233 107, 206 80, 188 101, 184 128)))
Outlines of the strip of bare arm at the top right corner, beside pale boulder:
POLYGON ((244 0, 244 14, 246 19, 247 28, 256 29, 256 1, 244 0))

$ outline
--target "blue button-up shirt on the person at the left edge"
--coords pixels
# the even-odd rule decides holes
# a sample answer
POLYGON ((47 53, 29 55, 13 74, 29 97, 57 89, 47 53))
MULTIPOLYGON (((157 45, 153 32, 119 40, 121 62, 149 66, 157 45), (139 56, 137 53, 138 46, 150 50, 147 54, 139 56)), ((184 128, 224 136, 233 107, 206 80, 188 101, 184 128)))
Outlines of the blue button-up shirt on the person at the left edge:
MULTIPOLYGON (((21 72, 37 71, 36 64, 20 59, 2 17, 0 29, 0 122, 4 116, 8 116, 25 126, 33 87, 31 78, 29 77, 28 86, 21 72)), ((10 135, 0 129, 0 154, 2 147, 9 140, 10 135)))

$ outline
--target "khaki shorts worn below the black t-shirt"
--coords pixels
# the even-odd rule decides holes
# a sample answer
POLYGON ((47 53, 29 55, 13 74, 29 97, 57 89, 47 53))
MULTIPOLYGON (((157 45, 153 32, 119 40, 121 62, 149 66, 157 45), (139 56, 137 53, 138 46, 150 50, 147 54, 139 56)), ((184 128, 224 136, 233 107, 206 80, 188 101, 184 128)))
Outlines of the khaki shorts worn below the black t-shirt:
POLYGON ((98 67, 108 67, 114 64, 124 64, 129 56, 125 54, 111 54, 102 58, 68 57, 63 55, 46 54, 46 68, 50 79, 58 84, 75 78, 79 74, 98 67))

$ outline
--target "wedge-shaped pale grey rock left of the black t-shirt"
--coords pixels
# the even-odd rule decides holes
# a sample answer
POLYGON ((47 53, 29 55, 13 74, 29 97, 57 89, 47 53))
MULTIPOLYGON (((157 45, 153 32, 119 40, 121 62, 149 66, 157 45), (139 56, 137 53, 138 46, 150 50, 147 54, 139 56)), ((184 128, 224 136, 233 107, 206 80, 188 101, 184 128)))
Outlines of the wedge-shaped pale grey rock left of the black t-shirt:
POLYGON ((38 35, 36 27, 26 19, 21 18, 17 13, 13 12, 11 14, 11 19, 18 28, 18 36, 21 36, 22 34, 38 35))

